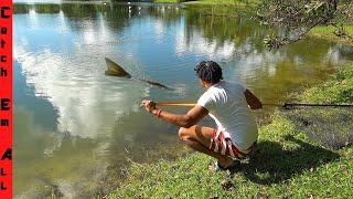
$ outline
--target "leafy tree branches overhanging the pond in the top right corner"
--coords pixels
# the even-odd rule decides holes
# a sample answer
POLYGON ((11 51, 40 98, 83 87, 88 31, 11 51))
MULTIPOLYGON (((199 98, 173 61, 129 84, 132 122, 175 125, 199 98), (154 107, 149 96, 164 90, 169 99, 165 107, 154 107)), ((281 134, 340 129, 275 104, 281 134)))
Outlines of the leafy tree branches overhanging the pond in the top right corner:
POLYGON ((279 28, 265 39, 270 49, 300 40, 317 25, 334 25, 334 33, 353 43, 344 24, 352 23, 351 0, 263 0, 257 18, 263 24, 279 28))

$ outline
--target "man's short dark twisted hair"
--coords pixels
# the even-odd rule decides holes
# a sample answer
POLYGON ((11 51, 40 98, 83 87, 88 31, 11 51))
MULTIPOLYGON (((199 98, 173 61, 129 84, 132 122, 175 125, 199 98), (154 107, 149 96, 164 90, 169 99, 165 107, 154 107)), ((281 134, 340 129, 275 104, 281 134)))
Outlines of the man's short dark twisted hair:
POLYGON ((215 84, 223 80, 221 66, 213 61, 200 62, 200 64, 195 67, 195 71, 199 78, 207 83, 215 84))

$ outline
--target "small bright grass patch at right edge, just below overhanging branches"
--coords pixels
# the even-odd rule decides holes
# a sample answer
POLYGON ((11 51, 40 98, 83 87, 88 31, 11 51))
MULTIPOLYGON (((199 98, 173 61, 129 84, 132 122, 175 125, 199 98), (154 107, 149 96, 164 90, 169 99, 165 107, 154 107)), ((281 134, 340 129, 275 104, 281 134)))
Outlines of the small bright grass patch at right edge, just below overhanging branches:
MULTIPOLYGON (((353 36, 353 25, 345 25, 344 30, 347 34, 353 36)), ((332 25, 315 27, 309 31, 308 35, 322 38, 322 39, 327 39, 327 40, 334 41, 334 42, 353 44, 353 41, 349 41, 349 40, 345 40, 344 38, 335 35, 334 31, 335 31, 335 28, 332 25)))

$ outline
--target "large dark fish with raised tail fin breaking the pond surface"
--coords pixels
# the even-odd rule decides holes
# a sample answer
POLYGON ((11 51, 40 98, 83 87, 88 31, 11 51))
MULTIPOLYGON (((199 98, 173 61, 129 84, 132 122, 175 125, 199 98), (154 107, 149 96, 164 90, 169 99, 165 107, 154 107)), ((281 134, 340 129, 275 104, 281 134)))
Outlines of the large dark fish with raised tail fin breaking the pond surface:
MULTIPOLYGON (((105 74, 108 76, 121 76, 121 77, 127 77, 127 78, 131 78, 132 76, 126 72, 119 64, 113 62, 110 59, 106 57, 106 63, 107 63, 107 71, 105 71, 105 74)), ((143 80, 143 78, 138 78, 142 82, 146 82, 148 84, 154 85, 157 87, 160 88, 164 88, 164 90, 172 90, 161 83, 158 82, 153 82, 153 81, 148 81, 148 80, 143 80)))

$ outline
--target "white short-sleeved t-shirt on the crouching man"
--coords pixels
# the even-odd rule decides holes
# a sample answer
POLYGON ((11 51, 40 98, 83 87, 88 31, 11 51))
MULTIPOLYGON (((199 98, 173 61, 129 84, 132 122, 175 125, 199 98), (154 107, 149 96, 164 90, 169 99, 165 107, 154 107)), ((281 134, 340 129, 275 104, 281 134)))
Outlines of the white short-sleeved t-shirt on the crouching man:
POLYGON ((249 148, 258 136, 245 91, 240 83, 221 81, 212 85, 197 101, 197 105, 208 111, 218 130, 222 130, 225 137, 231 137, 240 150, 249 148))

